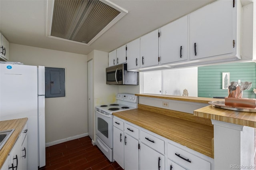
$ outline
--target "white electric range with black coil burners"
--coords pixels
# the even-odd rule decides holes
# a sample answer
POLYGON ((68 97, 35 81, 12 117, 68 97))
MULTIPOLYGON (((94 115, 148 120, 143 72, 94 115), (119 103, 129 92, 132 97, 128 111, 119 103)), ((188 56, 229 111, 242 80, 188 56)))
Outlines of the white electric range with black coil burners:
POLYGON ((95 107, 96 145, 113 162, 113 115, 114 112, 136 109, 138 97, 132 94, 117 94, 116 103, 95 107))

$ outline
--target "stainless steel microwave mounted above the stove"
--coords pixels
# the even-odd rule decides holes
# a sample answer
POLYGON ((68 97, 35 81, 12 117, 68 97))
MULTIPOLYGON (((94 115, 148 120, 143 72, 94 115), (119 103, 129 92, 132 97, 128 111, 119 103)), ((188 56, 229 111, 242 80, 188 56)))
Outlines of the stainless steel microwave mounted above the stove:
POLYGON ((109 85, 139 85, 138 72, 127 71, 127 63, 106 68, 106 83, 109 85))

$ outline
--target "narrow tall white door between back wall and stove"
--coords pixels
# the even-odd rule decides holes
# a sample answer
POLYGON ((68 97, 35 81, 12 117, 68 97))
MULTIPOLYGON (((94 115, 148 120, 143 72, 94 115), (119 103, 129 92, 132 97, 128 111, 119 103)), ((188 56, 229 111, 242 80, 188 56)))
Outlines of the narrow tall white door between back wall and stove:
POLYGON ((88 69, 88 134, 95 142, 94 138, 94 104, 93 104, 93 60, 87 63, 88 69))

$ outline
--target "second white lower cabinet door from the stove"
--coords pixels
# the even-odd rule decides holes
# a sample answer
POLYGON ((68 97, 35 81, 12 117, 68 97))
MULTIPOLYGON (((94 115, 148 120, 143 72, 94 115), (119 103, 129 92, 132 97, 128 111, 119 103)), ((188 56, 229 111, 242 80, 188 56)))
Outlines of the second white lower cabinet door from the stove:
POLYGON ((125 134, 124 144, 124 168, 125 170, 139 169, 139 148, 138 140, 125 134))

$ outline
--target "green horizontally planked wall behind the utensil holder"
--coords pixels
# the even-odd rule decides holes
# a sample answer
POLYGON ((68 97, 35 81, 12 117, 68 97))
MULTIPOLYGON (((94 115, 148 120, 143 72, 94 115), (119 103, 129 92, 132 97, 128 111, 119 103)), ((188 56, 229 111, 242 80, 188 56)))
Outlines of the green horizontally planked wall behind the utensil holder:
POLYGON ((243 92, 243 98, 254 98, 256 88, 256 63, 228 63, 198 67, 198 97, 227 97, 228 90, 222 89, 222 72, 230 73, 230 82, 252 82, 252 88, 243 92))

